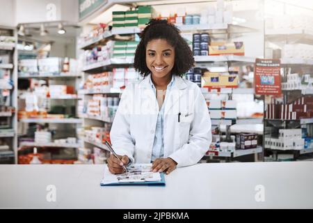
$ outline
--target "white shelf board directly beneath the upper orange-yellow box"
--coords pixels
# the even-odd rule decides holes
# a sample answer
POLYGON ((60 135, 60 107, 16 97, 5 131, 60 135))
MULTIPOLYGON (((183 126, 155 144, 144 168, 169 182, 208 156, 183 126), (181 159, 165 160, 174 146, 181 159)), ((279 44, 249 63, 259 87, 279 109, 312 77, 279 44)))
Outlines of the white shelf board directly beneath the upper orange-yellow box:
POLYGON ((237 61, 237 62, 247 62, 255 63, 255 57, 249 56, 236 56, 236 55, 220 55, 220 56, 194 56, 195 62, 204 63, 204 62, 227 62, 227 61, 237 61))

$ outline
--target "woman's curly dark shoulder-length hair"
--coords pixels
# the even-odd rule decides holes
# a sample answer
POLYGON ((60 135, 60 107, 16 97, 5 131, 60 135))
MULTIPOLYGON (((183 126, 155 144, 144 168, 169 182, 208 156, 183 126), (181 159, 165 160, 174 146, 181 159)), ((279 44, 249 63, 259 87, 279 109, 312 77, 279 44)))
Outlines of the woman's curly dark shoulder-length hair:
POLYGON ((179 29, 166 20, 150 20, 140 34, 141 42, 136 49, 134 68, 144 77, 149 75, 151 71, 147 68, 147 64, 145 63, 147 43, 151 40, 163 39, 167 40, 175 49, 175 64, 172 68, 172 75, 182 77, 184 73, 193 67, 195 60, 193 59, 193 52, 191 52, 188 44, 179 33, 179 29))

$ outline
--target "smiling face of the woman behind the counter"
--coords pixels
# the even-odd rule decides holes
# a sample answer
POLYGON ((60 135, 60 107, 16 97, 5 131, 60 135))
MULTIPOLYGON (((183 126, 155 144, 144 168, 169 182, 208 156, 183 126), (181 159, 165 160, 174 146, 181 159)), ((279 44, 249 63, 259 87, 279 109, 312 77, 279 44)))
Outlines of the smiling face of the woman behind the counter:
POLYGON ((168 78, 175 64, 175 49, 166 40, 151 40, 147 43, 145 62, 154 78, 168 78))

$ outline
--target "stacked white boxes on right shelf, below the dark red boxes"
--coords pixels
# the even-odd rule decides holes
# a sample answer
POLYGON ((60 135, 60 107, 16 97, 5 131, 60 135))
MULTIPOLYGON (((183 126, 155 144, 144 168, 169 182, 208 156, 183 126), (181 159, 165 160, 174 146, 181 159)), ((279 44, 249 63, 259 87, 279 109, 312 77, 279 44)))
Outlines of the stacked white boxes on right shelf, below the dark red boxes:
POLYGON ((265 147, 276 150, 301 150, 305 146, 301 129, 280 129, 279 137, 265 137, 265 147))

